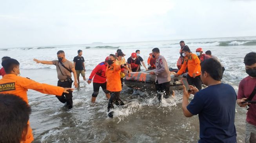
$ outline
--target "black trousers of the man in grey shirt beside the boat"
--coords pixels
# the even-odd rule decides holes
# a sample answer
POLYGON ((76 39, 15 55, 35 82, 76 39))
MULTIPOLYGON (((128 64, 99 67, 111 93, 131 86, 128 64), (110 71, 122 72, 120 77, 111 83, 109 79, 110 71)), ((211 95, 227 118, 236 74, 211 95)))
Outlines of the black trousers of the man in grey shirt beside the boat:
POLYGON ((162 84, 159 84, 158 80, 156 80, 156 92, 157 92, 157 98, 158 98, 159 102, 162 102, 161 93, 163 93, 163 98, 168 98, 169 95, 171 94, 170 82, 164 82, 162 84))

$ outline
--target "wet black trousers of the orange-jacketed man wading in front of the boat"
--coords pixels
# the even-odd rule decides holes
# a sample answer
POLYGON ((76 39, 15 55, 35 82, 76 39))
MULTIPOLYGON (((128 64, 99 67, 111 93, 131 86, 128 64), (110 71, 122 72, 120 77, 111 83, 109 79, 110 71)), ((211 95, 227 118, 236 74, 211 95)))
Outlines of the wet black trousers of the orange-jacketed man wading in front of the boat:
POLYGON ((110 109, 114 109, 114 104, 116 105, 124 105, 124 103, 120 100, 120 92, 110 92, 111 97, 109 98, 109 104, 107 105, 107 111, 109 112, 110 109))

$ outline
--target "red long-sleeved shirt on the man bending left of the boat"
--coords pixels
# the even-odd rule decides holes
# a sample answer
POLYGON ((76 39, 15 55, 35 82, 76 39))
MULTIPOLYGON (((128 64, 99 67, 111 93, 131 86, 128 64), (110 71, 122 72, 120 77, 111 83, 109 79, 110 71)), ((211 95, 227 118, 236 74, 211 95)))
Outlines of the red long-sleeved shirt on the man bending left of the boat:
POLYGON ((105 64, 105 62, 102 62, 100 64, 98 64, 92 71, 89 80, 93 79, 93 82, 95 83, 105 83, 106 82, 106 68, 107 65, 105 64), (94 77, 94 78, 93 78, 94 77))

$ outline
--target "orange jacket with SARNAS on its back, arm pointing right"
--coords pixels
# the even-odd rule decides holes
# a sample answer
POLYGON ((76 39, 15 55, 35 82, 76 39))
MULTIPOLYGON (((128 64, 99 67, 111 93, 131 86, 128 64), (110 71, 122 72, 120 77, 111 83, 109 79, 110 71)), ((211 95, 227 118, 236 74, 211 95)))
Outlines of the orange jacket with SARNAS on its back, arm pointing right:
MULTIPOLYGON (((14 74, 4 75, 0 79, 0 93, 1 94, 14 94, 21 97, 28 104, 27 89, 33 89, 45 94, 52 94, 61 96, 63 88, 58 86, 51 86, 49 84, 41 84, 25 77, 18 77, 14 74)), ((29 124, 29 122, 28 122, 29 124)), ((31 143, 34 140, 32 129, 29 125, 27 132, 27 140, 25 143, 31 143)))

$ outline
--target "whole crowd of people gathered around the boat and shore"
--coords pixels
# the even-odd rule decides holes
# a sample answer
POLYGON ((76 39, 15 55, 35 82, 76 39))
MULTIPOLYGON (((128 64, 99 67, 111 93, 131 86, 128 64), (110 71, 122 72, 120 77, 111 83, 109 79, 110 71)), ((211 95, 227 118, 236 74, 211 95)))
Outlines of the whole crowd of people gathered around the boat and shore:
MULTIPOLYGON (((240 107, 249 106, 246 118, 246 143, 256 142, 256 53, 245 55, 244 64, 246 73, 249 75, 241 80, 238 95, 232 86, 221 82, 225 70, 220 60, 211 55, 211 51, 203 54, 202 48, 196 49, 193 54, 184 41, 180 41, 180 58, 177 62, 178 71, 175 76, 187 74, 187 82, 190 90, 183 86, 182 110, 186 117, 199 116, 200 140, 198 142, 236 143, 236 128, 234 125, 236 103, 240 107), (202 89, 202 84, 206 88, 202 89), (194 98, 189 103, 189 97, 194 98)), ((73 88, 78 88, 79 76, 85 78, 84 57, 82 50, 73 62, 65 58, 65 52, 57 52, 58 60, 40 61, 36 63, 53 64, 56 66, 58 83, 57 86, 42 84, 34 80, 20 77, 20 63, 11 57, 2 58, 0 75, 0 143, 31 143, 33 141, 32 129, 29 125, 31 108, 28 105, 27 89, 33 89, 45 94, 56 95, 67 108, 73 108, 73 88), (72 74, 74 81, 72 80, 72 74), (74 83, 73 83, 74 82, 74 83)), ((91 102, 96 102, 100 87, 109 100, 107 104, 108 116, 113 118, 115 105, 124 105, 120 98, 123 87, 123 78, 129 72, 152 70, 149 75, 156 76, 155 87, 158 101, 169 98, 173 94, 170 91, 172 71, 169 71, 168 63, 159 48, 153 48, 145 65, 140 56, 140 50, 131 53, 125 60, 125 54, 118 49, 115 54, 108 55, 91 72, 88 84, 93 81, 93 93, 91 102)))

